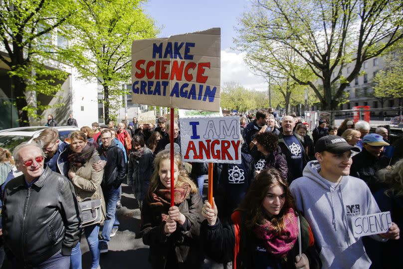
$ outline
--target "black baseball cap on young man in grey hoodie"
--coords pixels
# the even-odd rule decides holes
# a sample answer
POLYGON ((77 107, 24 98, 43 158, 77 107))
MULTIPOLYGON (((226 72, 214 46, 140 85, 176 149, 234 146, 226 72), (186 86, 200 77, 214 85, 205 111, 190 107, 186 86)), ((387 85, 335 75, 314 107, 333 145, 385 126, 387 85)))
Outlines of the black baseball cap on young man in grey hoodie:
POLYGON ((349 150, 360 152, 359 148, 349 145, 344 138, 338 135, 321 137, 315 144, 315 153, 329 151, 331 153, 340 154, 349 150))

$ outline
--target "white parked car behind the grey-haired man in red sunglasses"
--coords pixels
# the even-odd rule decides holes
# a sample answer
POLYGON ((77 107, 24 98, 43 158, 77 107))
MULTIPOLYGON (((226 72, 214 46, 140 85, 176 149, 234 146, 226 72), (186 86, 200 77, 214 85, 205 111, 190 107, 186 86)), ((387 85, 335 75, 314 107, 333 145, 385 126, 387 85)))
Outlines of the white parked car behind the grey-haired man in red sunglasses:
MULTIPOLYGON (((30 142, 35 137, 49 127, 32 126, 32 127, 17 127, 5 129, 0 131, 0 147, 13 151, 14 148, 22 142, 30 142)), ((75 126, 57 126, 53 127, 59 131, 59 139, 64 141, 65 138, 70 136, 73 131, 80 130, 75 126)))

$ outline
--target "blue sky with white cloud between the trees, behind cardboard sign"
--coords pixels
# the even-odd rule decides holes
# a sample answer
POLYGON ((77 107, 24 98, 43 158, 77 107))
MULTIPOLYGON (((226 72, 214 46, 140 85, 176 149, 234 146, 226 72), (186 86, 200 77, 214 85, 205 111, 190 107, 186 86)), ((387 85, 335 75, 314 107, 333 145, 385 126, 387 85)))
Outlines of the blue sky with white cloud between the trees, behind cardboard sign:
POLYGON ((248 89, 266 90, 267 82, 243 62, 243 53, 233 48, 238 24, 249 0, 149 0, 143 4, 160 28, 158 37, 221 28, 221 87, 236 82, 248 89))

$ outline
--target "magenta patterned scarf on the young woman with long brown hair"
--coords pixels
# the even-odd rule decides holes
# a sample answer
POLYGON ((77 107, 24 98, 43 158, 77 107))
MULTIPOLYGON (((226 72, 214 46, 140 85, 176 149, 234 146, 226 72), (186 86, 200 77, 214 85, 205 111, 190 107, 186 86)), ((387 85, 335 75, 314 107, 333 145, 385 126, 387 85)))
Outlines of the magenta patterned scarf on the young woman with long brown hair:
POLYGON ((285 229, 280 235, 274 233, 273 225, 267 219, 253 230, 255 236, 263 241, 267 251, 281 258, 287 256, 298 239, 298 218, 294 210, 290 208, 284 215, 285 229))

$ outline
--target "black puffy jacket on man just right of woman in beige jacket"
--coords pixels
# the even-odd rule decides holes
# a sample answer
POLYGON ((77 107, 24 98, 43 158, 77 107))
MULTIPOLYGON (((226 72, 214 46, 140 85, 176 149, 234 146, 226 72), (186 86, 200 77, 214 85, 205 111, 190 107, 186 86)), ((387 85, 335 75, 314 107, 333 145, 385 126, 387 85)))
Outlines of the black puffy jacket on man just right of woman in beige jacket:
POLYGON ((126 179, 127 166, 125 161, 125 153, 119 148, 115 141, 112 140, 107 149, 101 145, 98 148, 99 156, 106 160, 104 167, 104 179, 102 180, 102 188, 114 186, 118 188, 126 179))

